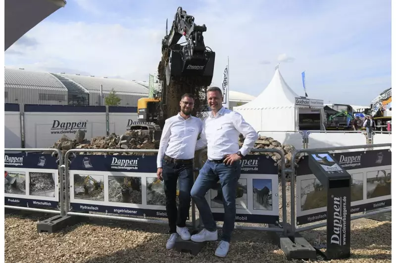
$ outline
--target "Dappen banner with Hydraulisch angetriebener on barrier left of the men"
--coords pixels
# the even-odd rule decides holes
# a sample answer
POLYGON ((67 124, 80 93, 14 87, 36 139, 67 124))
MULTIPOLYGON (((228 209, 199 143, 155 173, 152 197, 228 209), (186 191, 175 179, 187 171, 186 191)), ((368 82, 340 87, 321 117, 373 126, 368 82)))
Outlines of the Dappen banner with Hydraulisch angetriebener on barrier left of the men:
POLYGON ((156 175, 156 156, 71 157, 70 209, 166 218, 164 187, 156 175))

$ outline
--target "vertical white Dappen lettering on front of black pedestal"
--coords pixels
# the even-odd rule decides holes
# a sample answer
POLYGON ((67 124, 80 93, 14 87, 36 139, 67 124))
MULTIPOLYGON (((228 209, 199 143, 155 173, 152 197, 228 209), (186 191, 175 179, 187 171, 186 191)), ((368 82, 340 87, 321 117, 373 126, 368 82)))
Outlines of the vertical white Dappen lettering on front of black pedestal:
POLYGON ((347 197, 334 196, 333 198, 333 235, 331 243, 339 246, 347 243, 347 197))

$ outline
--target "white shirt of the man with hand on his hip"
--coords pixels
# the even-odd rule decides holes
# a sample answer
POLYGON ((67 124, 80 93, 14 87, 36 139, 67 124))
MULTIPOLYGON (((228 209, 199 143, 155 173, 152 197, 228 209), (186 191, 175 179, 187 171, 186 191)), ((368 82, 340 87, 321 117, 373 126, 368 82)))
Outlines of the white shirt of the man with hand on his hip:
POLYGON ((242 155, 245 156, 254 147, 257 139, 257 132, 240 113, 223 107, 216 116, 210 113, 204 120, 204 127, 197 142, 196 150, 207 145, 209 160, 221 160, 225 155, 238 151, 241 151, 242 155), (245 141, 240 149, 238 142, 241 133, 244 135, 245 141))

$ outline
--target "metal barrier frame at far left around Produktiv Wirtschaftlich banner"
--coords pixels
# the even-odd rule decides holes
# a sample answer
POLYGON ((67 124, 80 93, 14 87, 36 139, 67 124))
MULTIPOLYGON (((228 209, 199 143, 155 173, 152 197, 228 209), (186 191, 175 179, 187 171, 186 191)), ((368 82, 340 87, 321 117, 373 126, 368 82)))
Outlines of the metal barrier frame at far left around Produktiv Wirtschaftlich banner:
MULTIPOLYGON (((34 208, 34 207, 21 207, 21 206, 11 206, 11 205, 4 205, 4 208, 8 209, 15 209, 15 210, 26 210, 26 211, 35 211, 35 212, 43 212, 43 213, 49 213, 49 214, 60 214, 61 216, 65 215, 65 211, 63 210, 64 208, 64 201, 63 201, 63 173, 62 173, 62 164, 63 164, 63 157, 62 157, 62 152, 58 149, 43 149, 43 148, 34 148, 34 149, 15 149, 15 148, 5 148, 4 151, 12 151, 12 152, 53 152, 58 154, 58 159, 56 160, 58 163, 58 175, 56 178, 59 180, 59 193, 60 193, 60 211, 56 210, 49 210, 49 209, 40 209, 40 208, 34 208)), ((57 181, 57 180, 56 180, 57 181)), ((56 182, 55 181, 55 182, 56 182)))

